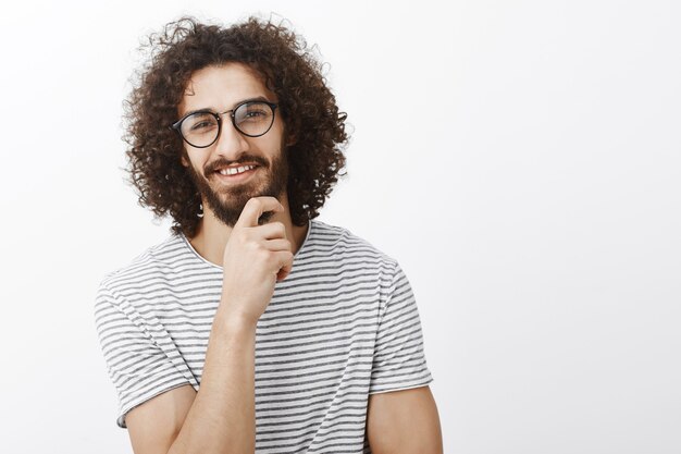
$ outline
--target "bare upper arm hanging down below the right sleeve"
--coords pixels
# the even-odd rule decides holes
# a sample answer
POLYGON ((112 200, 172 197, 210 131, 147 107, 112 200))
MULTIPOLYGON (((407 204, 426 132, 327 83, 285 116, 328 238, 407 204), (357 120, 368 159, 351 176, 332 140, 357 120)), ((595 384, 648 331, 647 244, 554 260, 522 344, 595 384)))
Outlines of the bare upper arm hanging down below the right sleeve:
POLYGON ((374 454, 442 454, 439 417, 431 389, 371 394, 367 438, 374 454))

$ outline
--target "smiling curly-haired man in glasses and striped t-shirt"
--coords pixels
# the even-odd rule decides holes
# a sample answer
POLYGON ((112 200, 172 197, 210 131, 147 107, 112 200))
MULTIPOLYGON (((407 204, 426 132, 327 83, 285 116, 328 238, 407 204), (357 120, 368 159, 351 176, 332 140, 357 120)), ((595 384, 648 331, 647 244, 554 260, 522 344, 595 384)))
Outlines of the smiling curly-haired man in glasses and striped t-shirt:
POLYGON ((347 142, 320 63, 255 19, 150 41, 131 181, 175 223, 95 309, 135 453, 442 452, 407 278, 313 220, 347 142))

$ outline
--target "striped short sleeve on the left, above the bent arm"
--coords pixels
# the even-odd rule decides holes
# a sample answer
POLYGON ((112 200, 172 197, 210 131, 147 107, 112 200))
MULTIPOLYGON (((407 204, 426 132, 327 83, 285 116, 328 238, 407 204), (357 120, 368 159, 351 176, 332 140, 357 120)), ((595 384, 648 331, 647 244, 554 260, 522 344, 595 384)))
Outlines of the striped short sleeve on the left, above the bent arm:
POLYGON ((119 396, 116 424, 126 428, 127 412, 190 380, 161 348, 144 319, 103 284, 97 292, 95 324, 100 346, 119 396))

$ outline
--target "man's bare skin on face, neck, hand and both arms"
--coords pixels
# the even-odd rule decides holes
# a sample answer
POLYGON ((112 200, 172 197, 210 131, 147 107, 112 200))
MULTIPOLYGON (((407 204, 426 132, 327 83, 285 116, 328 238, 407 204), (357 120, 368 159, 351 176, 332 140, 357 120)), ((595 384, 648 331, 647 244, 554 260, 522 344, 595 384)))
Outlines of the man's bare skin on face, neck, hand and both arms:
MULTIPOLYGON (((228 63, 197 71, 178 118, 194 109, 216 112, 244 99, 265 97, 276 102, 261 77, 248 66, 228 63)), ((231 183, 206 172, 215 162, 235 162, 242 155, 271 163, 287 143, 280 115, 265 135, 246 137, 225 116, 221 135, 208 148, 186 145, 184 165, 205 177, 224 204, 235 203, 231 183)), ((224 269, 222 297, 211 328, 201 386, 164 392, 127 414, 126 424, 136 454, 253 453, 256 323, 264 312, 277 281, 286 279, 294 254, 307 234, 290 221, 285 191, 277 197, 260 196, 268 165, 242 182, 252 197, 234 226, 219 220, 203 203, 203 218, 194 248, 224 269), (259 225, 261 214, 273 212, 259 225), (248 263, 247 267, 244 263, 248 263)), ((245 189, 245 187, 239 187, 245 189)), ((442 453, 442 434, 435 402, 428 386, 369 396, 367 437, 372 451, 383 453, 442 453)))

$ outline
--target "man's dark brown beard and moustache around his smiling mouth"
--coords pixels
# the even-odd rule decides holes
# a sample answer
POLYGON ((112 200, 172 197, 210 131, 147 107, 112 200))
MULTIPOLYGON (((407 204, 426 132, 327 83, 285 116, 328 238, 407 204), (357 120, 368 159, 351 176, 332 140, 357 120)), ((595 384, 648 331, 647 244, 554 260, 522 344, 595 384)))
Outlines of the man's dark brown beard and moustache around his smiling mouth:
MULTIPOLYGON (((283 155, 284 154, 280 151, 272 162, 268 162, 264 158, 253 155, 243 155, 237 161, 215 161, 211 164, 212 169, 226 164, 256 162, 258 164, 256 172, 261 173, 260 175, 253 175, 249 181, 243 184, 231 186, 222 186, 221 184, 218 189, 214 189, 210 181, 207 180, 203 174, 199 174, 194 169, 194 165, 190 164, 187 170, 203 204, 210 207, 216 219, 233 228, 236 221, 238 221, 239 216, 242 216, 246 203, 252 197, 270 196, 280 199, 284 194, 288 181, 288 161, 283 155)), ((186 159, 189 161, 188 156, 186 159)), ((214 171, 207 172, 209 177, 215 179, 214 173, 214 171)), ((268 222, 273 214, 274 212, 272 211, 262 213, 258 220, 258 224, 262 225, 268 222)))

